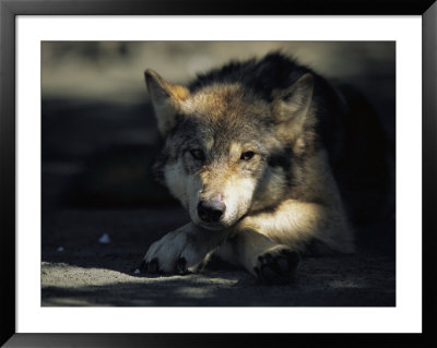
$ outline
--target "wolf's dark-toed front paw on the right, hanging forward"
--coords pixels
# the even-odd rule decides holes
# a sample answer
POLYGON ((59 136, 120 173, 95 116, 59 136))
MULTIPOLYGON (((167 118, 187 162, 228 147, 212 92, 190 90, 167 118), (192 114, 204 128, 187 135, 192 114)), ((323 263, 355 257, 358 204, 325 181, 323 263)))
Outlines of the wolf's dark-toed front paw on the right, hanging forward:
POLYGON ((300 256, 287 247, 273 247, 258 256, 253 267, 261 284, 282 285, 293 280, 300 256))

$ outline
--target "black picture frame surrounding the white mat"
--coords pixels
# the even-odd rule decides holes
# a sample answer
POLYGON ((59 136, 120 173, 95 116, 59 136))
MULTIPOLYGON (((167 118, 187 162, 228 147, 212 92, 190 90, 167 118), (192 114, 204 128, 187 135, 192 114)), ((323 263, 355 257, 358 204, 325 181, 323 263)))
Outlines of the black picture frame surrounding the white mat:
MULTIPOLYGON (((435 0, 286 2, 168 0, 0 0, 0 344, 7 347, 179 347, 281 345, 436 347, 437 3, 435 0), (17 15, 421 15, 423 23, 423 333, 422 334, 16 334, 15 333, 15 20, 17 15), (7 343, 8 341, 8 343, 7 343)), ((412 118, 412 121, 414 119, 412 118)), ((260 319, 262 320, 262 319, 260 319)))

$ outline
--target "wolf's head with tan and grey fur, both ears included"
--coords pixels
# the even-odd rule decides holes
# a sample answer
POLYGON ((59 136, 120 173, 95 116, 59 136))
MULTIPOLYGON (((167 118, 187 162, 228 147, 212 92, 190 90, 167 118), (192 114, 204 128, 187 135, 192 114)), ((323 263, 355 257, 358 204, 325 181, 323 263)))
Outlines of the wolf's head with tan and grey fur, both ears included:
POLYGON ((227 228, 284 199, 314 137, 311 74, 270 100, 239 83, 190 91, 152 70, 145 80, 165 139, 155 167, 194 224, 227 228))

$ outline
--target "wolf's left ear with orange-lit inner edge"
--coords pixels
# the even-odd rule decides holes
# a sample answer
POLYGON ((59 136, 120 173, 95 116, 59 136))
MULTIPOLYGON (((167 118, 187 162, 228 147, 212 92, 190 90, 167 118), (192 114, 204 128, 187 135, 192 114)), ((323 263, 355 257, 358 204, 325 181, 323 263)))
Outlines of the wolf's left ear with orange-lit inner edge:
POLYGON ((188 88, 165 81, 153 70, 144 72, 145 84, 157 118, 157 128, 164 136, 176 125, 179 105, 190 92, 188 88))

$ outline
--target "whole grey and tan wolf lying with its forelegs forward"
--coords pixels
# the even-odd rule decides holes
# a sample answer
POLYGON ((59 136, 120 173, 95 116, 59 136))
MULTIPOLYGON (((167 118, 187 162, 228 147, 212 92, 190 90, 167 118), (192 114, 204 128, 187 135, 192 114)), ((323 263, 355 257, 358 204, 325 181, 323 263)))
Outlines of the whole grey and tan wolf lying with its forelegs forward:
POLYGON ((351 87, 281 52, 188 86, 145 81, 165 140, 154 171, 191 221, 150 247, 143 272, 197 272, 214 254, 286 284, 300 255, 354 252, 351 220, 386 209, 383 134, 351 87))

